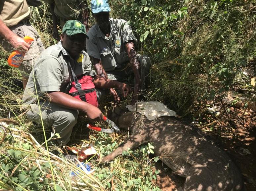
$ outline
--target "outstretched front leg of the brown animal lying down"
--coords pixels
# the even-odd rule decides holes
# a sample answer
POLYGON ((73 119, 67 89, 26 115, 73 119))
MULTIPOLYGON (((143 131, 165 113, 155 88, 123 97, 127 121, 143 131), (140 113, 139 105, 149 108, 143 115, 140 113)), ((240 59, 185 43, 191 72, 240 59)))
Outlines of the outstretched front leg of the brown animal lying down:
POLYGON ((133 150, 133 149, 137 148, 138 146, 140 146, 141 144, 146 143, 146 142, 147 141, 145 141, 145 137, 142 136, 141 134, 131 135, 124 144, 122 143, 115 151, 113 151, 109 155, 103 157, 101 160, 98 159, 98 161, 109 162, 109 161, 113 160, 117 155, 122 154, 122 152, 124 150, 127 150, 128 148, 133 150))

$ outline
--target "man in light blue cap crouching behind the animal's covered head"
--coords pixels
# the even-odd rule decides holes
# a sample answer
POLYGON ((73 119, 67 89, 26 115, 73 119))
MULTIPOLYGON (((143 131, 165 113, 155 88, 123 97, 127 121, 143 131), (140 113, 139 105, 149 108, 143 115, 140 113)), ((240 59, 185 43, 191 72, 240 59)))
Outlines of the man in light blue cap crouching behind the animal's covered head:
MULTIPOLYGON (((91 10, 97 24, 88 31, 87 53, 92 58, 97 74, 107 79, 123 81, 132 69, 135 81, 134 104, 149 74, 150 59, 136 53, 134 44, 137 39, 130 25, 125 20, 109 18, 107 0, 92 0, 91 10), (131 67, 127 67, 128 63, 131 67)), ((120 100, 115 90, 110 89, 110 93, 115 101, 120 100)))

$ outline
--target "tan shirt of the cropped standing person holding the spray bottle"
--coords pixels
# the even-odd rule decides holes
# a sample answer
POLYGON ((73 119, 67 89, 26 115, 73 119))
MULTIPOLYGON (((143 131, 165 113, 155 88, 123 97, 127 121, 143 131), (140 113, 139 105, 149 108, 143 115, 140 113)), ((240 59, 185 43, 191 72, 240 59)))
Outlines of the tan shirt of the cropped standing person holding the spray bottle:
POLYGON ((26 0, 1 0, 0 19, 8 27, 17 25, 21 20, 30 18, 30 7, 26 0))

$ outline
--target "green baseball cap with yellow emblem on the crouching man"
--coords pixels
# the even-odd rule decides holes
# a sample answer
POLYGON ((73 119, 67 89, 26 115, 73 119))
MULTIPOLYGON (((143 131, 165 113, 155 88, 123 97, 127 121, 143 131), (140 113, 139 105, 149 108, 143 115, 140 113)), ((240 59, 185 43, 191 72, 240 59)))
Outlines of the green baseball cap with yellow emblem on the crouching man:
POLYGON ((87 36, 85 26, 78 20, 68 20, 63 26, 62 33, 66 33, 68 36, 76 35, 79 33, 85 34, 86 38, 89 39, 87 36))

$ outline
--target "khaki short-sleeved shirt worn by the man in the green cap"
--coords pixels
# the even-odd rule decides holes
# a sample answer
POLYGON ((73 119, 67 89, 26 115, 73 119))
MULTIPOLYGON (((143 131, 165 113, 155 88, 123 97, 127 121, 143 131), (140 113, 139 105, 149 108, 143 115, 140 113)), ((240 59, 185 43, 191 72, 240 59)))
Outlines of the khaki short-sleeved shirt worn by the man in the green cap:
POLYGON ((36 60, 23 94, 24 104, 34 103, 37 100, 37 94, 39 99, 43 99, 44 92, 60 91, 68 93, 72 82, 72 73, 68 62, 70 62, 76 76, 82 74, 96 75, 92 69, 90 57, 84 50, 77 59, 73 60, 60 41, 58 44, 45 49, 36 60), (36 87, 34 86, 34 81, 36 87))

